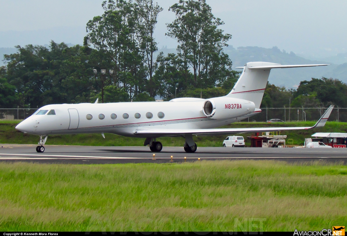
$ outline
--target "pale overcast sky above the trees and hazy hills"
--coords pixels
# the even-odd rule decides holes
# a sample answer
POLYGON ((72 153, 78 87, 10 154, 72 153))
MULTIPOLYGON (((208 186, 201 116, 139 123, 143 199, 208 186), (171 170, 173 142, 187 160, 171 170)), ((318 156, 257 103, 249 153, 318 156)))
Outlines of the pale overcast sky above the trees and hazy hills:
MULTIPOLYGON (((206 0, 212 13, 232 34, 229 45, 277 46, 287 52, 325 57, 347 52, 345 0, 206 0)), ((166 23, 175 15, 169 7, 178 0, 158 0, 155 36, 159 47, 175 48, 166 23)), ((0 47, 48 44, 50 40, 82 44, 85 26, 102 15, 102 0, 0 0, 0 47)))

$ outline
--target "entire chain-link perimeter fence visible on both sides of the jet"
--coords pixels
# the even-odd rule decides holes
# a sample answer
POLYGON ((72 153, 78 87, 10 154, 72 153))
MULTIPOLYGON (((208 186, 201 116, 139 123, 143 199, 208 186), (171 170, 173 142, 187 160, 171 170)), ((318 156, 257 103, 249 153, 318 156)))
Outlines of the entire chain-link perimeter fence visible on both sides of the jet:
MULTIPOLYGON (((261 108, 262 112, 258 115, 251 116, 243 121, 260 121, 266 122, 270 119, 280 119, 282 121, 317 121, 323 113, 328 109, 327 107, 291 107, 291 108, 261 108), (290 115, 290 119, 289 119, 290 115)), ((31 116, 36 108, 12 108, 1 109, 0 108, 0 120, 23 120, 28 116, 31 116)), ((334 107, 329 121, 347 122, 347 108, 334 107)))

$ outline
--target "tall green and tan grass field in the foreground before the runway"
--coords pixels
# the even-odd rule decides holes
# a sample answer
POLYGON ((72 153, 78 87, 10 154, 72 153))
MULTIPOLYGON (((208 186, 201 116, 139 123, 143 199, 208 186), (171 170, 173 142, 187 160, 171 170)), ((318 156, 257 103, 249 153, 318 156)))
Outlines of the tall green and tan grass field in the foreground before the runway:
POLYGON ((0 164, 0 231, 321 230, 347 223, 347 166, 273 161, 0 164))

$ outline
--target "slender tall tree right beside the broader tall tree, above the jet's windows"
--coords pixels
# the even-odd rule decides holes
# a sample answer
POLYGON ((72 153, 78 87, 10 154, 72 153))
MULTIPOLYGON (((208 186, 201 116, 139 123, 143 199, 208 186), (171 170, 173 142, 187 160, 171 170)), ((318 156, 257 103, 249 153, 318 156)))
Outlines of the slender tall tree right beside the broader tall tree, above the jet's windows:
POLYGON ((158 50, 157 44, 154 41, 154 29, 157 23, 158 14, 163 10, 158 3, 153 0, 136 0, 138 4, 138 26, 139 26, 139 41, 140 47, 145 53, 145 61, 148 68, 149 76, 149 93, 154 97, 153 91, 153 52, 158 50))

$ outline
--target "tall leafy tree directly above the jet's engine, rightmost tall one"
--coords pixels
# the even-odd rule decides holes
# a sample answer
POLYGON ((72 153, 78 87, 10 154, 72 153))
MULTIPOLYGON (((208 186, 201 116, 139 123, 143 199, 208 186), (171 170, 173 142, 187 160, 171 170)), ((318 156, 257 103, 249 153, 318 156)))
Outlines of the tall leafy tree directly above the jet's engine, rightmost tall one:
POLYGON ((167 24, 166 35, 179 43, 178 56, 185 63, 185 68, 188 65, 192 68, 194 86, 214 87, 225 80, 232 63, 223 47, 228 46, 231 35, 218 29, 224 24, 221 19, 213 16, 205 0, 180 0, 169 10, 176 14, 176 19, 167 24))

